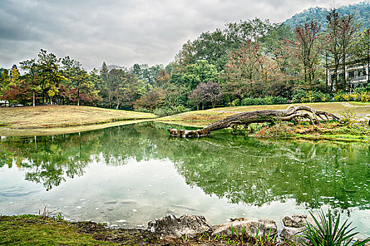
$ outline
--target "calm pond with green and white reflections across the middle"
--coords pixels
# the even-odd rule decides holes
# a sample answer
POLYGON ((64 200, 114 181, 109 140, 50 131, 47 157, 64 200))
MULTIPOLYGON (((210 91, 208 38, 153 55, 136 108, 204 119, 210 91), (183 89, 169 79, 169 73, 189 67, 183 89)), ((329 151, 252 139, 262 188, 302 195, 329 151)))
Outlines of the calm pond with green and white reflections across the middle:
POLYGON ((168 213, 280 220, 332 208, 370 234, 370 146, 216 131, 169 138, 142 122, 57 136, 1 137, 0 214, 144 227, 168 213))

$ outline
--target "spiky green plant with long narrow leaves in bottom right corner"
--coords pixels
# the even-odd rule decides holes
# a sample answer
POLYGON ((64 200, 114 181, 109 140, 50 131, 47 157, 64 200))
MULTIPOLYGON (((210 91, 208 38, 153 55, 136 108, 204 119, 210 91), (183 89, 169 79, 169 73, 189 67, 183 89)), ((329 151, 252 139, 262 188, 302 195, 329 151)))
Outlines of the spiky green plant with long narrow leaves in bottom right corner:
MULTIPOLYGON (((310 212, 312 218, 314 219, 314 225, 307 223, 304 227, 304 235, 301 238, 308 240, 300 240, 304 246, 347 246, 354 235, 358 232, 353 232, 354 228, 350 228, 352 222, 349 224, 346 220, 342 225, 340 225, 340 214, 337 219, 333 219, 331 211, 328 211, 328 216, 325 216, 324 212, 321 210, 319 212, 319 220, 310 212)), ((369 242, 370 238, 366 240, 357 241, 353 246, 361 246, 366 242, 369 242)))

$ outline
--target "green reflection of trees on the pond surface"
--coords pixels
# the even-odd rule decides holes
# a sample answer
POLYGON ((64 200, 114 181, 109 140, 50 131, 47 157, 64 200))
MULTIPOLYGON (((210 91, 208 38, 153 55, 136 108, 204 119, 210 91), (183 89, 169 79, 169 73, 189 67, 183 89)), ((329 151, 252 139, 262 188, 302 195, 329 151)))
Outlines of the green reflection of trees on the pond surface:
POLYGON ((370 207, 369 145, 266 141, 225 132, 179 139, 168 138, 167 127, 145 122, 80 134, 3 138, 0 167, 24 169, 27 181, 51 190, 82 176, 92 162, 171 160, 188 186, 231 203, 262 206, 294 198, 310 208, 370 207))

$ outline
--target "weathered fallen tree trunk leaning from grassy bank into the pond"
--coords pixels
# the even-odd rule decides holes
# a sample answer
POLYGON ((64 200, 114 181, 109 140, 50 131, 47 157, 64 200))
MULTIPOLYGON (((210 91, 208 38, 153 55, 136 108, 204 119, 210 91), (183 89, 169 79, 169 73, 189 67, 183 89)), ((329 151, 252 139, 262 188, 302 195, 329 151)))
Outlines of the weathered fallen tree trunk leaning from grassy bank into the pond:
POLYGON ((236 115, 230 115, 225 119, 213 122, 203 129, 198 130, 183 130, 183 129, 167 129, 171 136, 183 138, 195 138, 201 136, 209 136, 211 131, 225 129, 228 127, 236 127, 240 125, 248 126, 251 123, 276 122, 276 121, 290 121, 292 119, 309 119, 312 124, 318 122, 319 119, 328 120, 329 117, 339 120, 338 117, 325 111, 316 111, 308 106, 289 106, 286 110, 257 110, 252 112, 241 112, 236 115))

